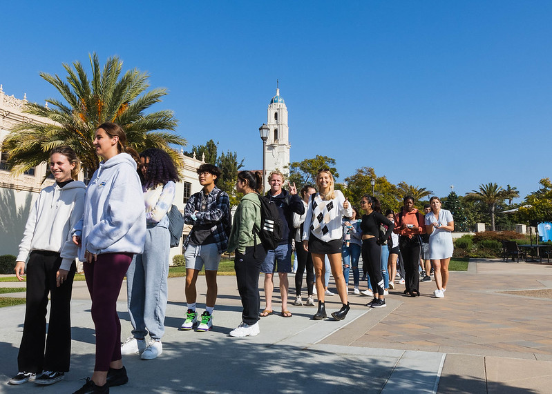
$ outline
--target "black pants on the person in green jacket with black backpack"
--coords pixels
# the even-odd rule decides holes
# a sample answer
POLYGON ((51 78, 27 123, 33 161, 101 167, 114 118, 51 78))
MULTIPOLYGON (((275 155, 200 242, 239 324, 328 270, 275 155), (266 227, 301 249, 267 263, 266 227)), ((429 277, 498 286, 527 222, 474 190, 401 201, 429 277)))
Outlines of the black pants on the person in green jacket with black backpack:
POLYGON ((267 257, 267 251, 262 244, 247 246, 243 255, 236 250, 234 269, 238 292, 242 299, 242 322, 245 324, 255 324, 259 319, 259 273, 260 264, 265 261, 265 257, 267 257))

